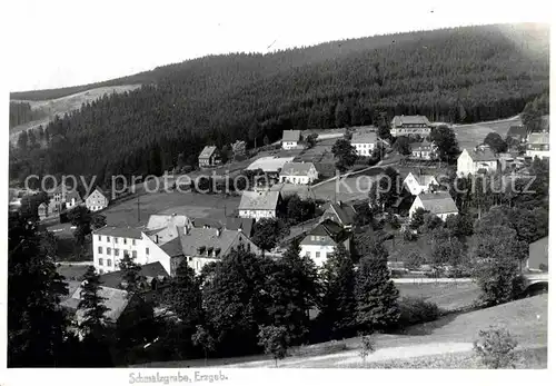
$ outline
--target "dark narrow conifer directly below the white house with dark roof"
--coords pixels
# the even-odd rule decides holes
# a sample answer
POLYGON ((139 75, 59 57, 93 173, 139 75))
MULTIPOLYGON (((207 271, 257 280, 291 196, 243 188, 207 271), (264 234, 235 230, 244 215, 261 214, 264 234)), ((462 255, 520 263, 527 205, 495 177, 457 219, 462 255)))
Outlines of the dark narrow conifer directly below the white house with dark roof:
POLYGON ((354 263, 344 245, 338 245, 322 269, 322 299, 319 318, 330 338, 350 335, 356 326, 354 263))

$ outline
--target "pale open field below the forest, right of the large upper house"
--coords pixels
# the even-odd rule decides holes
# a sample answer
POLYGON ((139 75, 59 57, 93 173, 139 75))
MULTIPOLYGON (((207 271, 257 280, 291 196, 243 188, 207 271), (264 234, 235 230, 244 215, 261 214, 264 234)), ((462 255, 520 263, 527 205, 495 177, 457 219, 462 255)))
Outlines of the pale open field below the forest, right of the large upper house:
POLYGON ((469 149, 483 143, 483 140, 489 132, 498 132, 503 139, 506 138, 506 132, 510 126, 522 125, 522 119, 517 117, 508 119, 499 119, 495 121, 486 121, 470 125, 454 125, 454 132, 459 142, 460 149, 469 149))

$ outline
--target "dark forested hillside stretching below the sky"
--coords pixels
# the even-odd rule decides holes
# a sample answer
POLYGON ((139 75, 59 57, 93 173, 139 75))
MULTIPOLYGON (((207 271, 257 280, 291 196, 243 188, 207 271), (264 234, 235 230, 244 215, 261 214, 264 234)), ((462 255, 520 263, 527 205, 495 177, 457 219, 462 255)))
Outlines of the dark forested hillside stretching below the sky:
POLYGON ((149 83, 141 89, 51 122, 48 148, 11 151, 11 176, 161 174, 179 152, 192 164, 206 143, 276 140, 284 129, 384 125, 401 113, 514 116, 548 90, 548 36, 527 24, 467 27, 157 68, 138 75, 149 83))

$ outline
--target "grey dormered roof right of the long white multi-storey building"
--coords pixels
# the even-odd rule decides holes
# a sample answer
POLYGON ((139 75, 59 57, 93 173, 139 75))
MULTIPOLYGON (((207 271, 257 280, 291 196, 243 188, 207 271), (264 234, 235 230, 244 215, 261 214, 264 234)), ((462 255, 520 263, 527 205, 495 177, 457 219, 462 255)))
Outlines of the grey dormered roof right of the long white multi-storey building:
POLYGON ((247 238, 242 232, 228 229, 203 229, 190 228, 186 234, 185 229, 180 229, 181 249, 186 256, 199 256, 199 248, 212 248, 217 257, 222 257, 229 253, 234 241, 239 236, 247 238))

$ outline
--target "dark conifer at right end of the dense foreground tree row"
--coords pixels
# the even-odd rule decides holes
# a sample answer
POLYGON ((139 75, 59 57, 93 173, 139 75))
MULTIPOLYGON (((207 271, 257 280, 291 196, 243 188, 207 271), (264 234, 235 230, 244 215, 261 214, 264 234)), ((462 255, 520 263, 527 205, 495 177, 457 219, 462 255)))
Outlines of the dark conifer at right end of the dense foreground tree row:
POLYGON ((357 323, 366 333, 387 329, 399 319, 399 291, 390 279, 388 253, 378 243, 370 250, 359 261, 355 286, 357 323))

